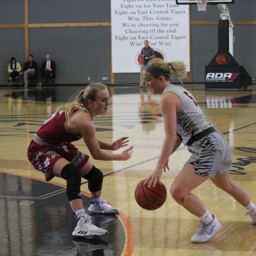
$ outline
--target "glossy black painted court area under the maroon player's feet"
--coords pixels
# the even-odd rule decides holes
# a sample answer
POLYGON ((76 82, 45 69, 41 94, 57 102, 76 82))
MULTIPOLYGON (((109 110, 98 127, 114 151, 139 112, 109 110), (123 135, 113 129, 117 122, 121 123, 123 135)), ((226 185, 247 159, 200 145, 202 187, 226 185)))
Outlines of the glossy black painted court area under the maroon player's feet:
MULTIPOLYGON (((0 255, 96 255, 122 252, 123 226, 115 215, 93 215, 92 222, 108 229, 108 236, 73 239, 75 218, 66 199, 66 188, 0 173, 0 255), (118 243, 115 241, 118 240, 118 243)), ((91 199, 83 197, 87 209, 91 199)))

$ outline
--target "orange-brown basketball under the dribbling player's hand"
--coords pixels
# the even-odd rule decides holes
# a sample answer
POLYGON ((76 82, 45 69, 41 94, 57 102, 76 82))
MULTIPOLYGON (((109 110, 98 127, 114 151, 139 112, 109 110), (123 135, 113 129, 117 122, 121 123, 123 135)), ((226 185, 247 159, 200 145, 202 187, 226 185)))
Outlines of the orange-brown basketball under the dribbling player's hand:
POLYGON ((135 189, 135 199, 140 207, 146 210, 156 210, 161 207, 167 196, 164 184, 148 187, 146 179, 139 182, 135 189))

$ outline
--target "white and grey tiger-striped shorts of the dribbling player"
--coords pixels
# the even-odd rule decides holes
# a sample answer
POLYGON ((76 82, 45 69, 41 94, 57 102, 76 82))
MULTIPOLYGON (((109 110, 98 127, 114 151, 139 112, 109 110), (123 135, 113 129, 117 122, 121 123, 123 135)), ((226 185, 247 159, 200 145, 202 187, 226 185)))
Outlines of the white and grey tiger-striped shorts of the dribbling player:
POLYGON ((193 164, 196 174, 209 178, 228 172, 232 165, 231 151, 224 135, 211 133, 188 146, 192 154, 186 164, 193 164))

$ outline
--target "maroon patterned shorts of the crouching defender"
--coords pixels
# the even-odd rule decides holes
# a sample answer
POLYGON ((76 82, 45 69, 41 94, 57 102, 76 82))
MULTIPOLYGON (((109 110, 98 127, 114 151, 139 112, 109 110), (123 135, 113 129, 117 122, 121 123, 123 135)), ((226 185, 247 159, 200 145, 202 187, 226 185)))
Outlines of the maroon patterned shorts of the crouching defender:
POLYGON ((28 148, 28 159, 35 169, 45 174, 47 181, 54 176, 52 169, 54 164, 60 158, 65 158, 78 168, 82 168, 88 162, 89 156, 78 151, 71 143, 63 146, 39 145, 35 141, 31 141, 28 148))

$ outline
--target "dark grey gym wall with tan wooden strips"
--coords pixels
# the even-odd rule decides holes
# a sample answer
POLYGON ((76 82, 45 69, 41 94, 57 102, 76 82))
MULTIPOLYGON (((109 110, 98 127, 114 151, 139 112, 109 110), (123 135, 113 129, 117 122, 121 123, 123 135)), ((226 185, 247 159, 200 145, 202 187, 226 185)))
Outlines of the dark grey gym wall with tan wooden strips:
MULTIPOLYGON (((234 24, 234 57, 256 78, 255 0, 235 0, 228 9, 234 24)), ((218 50, 219 18, 217 6, 208 5, 206 13, 191 6, 192 82, 204 82, 204 67, 218 50)), ((116 83, 139 81, 139 73, 111 73, 110 0, 2 0, 0 38, 0 85, 7 84, 10 58, 14 56, 23 67, 30 53, 39 68, 45 55, 51 55, 56 61, 56 84, 85 84, 102 77, 116 83)), ((120 57, 125 61, 125 56, 120 57)))

